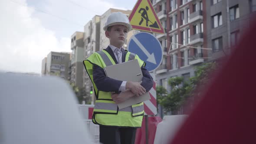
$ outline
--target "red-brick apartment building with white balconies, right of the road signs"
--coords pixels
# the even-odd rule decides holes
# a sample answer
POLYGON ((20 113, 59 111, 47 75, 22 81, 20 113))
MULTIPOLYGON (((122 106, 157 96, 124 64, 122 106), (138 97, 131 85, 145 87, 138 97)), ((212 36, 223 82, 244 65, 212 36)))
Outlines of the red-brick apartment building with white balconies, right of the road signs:
POLYGON ((158 85, 167 90, 167 80, 175 76, 184 79, 194 76, 193 65, 200 64, 207 57, 206 33, 206 0, 153 0, 158 18, 166 33, 155 34, 159 39, 164 56, 161 65, 156 70, 158 85), (206 35, 206 34, 205 34, 206 35), (189 48, 187 46, 193 46, 189 48), (199 48, 197 48, 199 47, 199 48))

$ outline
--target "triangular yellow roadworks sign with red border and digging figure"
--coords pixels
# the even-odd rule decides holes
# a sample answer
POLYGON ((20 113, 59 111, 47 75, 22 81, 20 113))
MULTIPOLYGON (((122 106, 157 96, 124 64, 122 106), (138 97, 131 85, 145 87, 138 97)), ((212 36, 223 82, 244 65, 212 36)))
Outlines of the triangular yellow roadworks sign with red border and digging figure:
POLYGON ((150 0, 138 0, 129 16, 133 29, 151 33, 164 33, 163 26, 150 0))

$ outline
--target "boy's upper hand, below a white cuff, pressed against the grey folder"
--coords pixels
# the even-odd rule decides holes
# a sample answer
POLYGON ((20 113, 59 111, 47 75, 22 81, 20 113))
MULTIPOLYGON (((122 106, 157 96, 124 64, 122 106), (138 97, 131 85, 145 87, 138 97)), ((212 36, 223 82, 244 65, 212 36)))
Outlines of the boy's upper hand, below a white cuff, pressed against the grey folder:
POLYGON ((126 82, 126 89, 130 89, 136 96, 141 96, 146 93, 146 89, 139 82, 126 82))

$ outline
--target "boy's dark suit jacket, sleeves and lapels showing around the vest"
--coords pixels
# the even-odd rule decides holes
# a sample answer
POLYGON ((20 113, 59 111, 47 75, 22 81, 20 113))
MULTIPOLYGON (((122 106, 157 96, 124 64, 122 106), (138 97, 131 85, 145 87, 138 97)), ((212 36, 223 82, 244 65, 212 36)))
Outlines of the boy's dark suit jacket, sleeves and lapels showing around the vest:
MULTIPOLYGON (((115 63, 118 64, 118 61, 115 58, 115 54, 112 51, 112 49, 108 46, 108 48, 106 48, 105 50, 110 54, 110 56, 112 56, 115 63)), ((127 51, 123 52, 122 62, 125 62, 126 54, 127 54, 127 51)), ((122 81, 107 77, 105 75, 104 69, 102 69, 98 65, 93 65, 92 70, 93 70, 93 81, 99 91, 118 93, 118 90, 121 86, 122 81)), ((144 66, 141 67, 141 71, 143 74, 141 85, 148 92, 153 87, 153 78, 149 74, 148 70, 144 68, 144 66)))

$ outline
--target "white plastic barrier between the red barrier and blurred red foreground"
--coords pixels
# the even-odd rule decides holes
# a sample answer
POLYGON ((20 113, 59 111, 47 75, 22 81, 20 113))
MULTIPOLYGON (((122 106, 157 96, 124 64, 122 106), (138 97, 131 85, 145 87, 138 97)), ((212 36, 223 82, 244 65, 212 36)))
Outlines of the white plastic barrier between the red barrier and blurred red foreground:
POLYGON ((167 115, 158 124, 154 144, 169 144, 187 115, 167 115))

